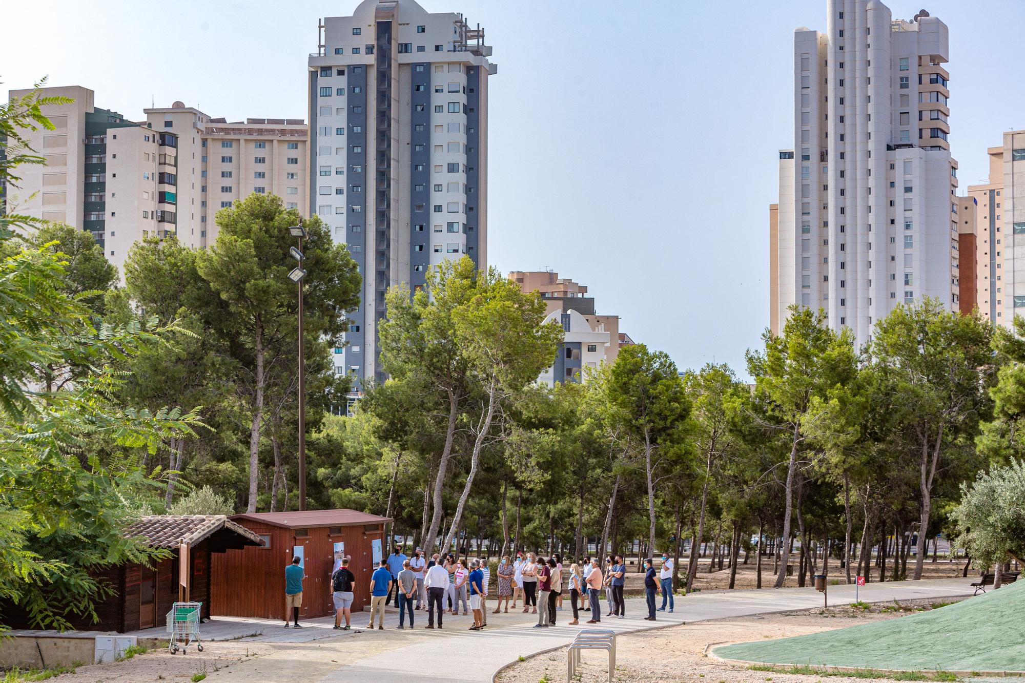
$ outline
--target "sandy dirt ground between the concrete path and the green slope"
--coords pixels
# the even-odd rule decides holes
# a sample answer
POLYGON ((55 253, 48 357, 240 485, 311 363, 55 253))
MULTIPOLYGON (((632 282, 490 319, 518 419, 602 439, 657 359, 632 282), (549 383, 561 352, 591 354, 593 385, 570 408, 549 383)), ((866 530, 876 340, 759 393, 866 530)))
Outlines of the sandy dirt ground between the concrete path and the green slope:
MULTIPOLYGON (((908 600, 899 604, 873 604, 867 610, 850 605, 829 609, 698 621, 619 636, 616 641, 614 680, 629 683, 668 683, 704 680, 709 683, 773 681, 774 683, 817 683, 819 676, 752 671, 719 664, 705 656, 711 643, 742 642, 763 638, 787 638, 842 629, 868 621, 899 617, 941 605, 929 600, 908 600)), ((608 659, 604 653, 585 653, 577 669, 580 683, 608 681, 608 659)), ((566 648, 529 657, 503 671, 501 683, 539 683, 566 679, 566 648)), ((863 678, 829 677, 829 683, 855 683, 863 678)))

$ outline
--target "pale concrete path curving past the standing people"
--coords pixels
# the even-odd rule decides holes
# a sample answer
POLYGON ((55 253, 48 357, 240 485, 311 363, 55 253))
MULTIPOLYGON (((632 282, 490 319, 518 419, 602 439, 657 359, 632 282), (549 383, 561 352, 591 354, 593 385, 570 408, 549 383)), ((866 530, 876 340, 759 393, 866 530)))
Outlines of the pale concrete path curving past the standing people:
MULTIPOLYGON (((971 595, 969 587, 972 578, 936 579, 924 581, 901 581, 890 584, 869 584, 859 591, 859 598, 865 602, 889 602, 891 600, 913 600, 919 598, 948 598, 971 595)), ((854 602, 855 587, 830 586, 830 604, 854 602)), ((659 599, 659 602, 661 599, 659 599)), ((701 621, 725 617, 749 616, 769 612, 811 609, 822 606, 822 594, 814 589, 780 589, 762 591, 733 591, 716 593, 695 593, 687 598, 678 598, 673 613, 658 612, 658 621, 644 620, 646 607, 644 600, 626 601, 626 618, 602 617, 601 628, 613 629, 620 633, 645 631, 683 621, 701 621)), ((491 604, 494 604, 493 602, 491 604)), ((603 606, 605 605, 603 601, 603 606)), ((408 683, 416 681, 446 681, 453 676, 460 681, 486 683, 505 665, 519 656, 530 656, 536 652, 561 647, 573 640, 577 633, 586 630, 581 614, 581 625, 565 626, 572 618, 569 601, 559 612, 560 624, 548 629, 531 628, 536 616, 522 612, 509 614, 489 614, 492 626, 481 633, 467 632, 469 617, 446 615, 445 630, 426 631, 422 612, 416 612, 417 627, 414 632, 406 632, 408 644, 399 644, 385 651, 379 651, 350 665, 340 666, 319 680, 334 683, 353 680, 372 680, 375 683, 408 683), (423 619, 423 620, 421 620, 423 619)), ((354 622, 366 626, 362 615, 354 622)), ((385 617, 385 630, 395 629, 398 616, 385 617)), ((369 636, 369 634, 366 634, 369 636)), ((398 635, 398 634, 389 634, 398 635)), ((345 648, 339 639, 338 647, 345 648)))

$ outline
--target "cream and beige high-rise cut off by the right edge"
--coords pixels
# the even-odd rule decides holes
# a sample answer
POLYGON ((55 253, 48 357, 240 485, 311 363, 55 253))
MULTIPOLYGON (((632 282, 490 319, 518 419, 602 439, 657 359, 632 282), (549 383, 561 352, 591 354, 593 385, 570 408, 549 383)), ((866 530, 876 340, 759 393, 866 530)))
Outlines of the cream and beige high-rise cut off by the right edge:
MULTIPOLYGON (((1025 131, 1006 132, 1001 147, 991 147, 986 150, 989 155, 989 182, 968 187, 968 196, 976 201, 976 286, 979 291, 979 312, 987 320, 1007 327, 1011 327, 1014 321, 1014 311, 1004 309, 1007 299, 1011 300, 1010 308, 1014 309, 1014 294, 1010 288, 1014 280, 1010 268, 1004 269, 1003 252, 1014 235, 1008 235, 1003 231, 1006 225, 1003 216, 1010 216, 1013 212, 1011 198, 1003 197, 1004 160, 1008 160, 1007 171, 1013 174, 1016 169, 1014 158, 1016 143, 1025 148, 1025 131), (1003 292, 1009 292, 1011 295, 1004 296, 1003 292)), ((1025 150, 1019 149, 1018 152, 1020 159, 1017 170, 1020 173, 1025 171, 1025 150)), ((1025 217, 1021 220, 1025 220, 1025 217)))

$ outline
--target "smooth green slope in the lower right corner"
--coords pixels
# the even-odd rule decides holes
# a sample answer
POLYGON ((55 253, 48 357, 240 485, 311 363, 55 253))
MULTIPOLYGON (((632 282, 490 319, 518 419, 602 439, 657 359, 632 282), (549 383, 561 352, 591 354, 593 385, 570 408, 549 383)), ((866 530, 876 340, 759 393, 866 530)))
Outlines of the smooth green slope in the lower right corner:
POLYGON ((928 612, 716 647, 728 659, 906 671, 1025 671, 1025 580, 928 612))

